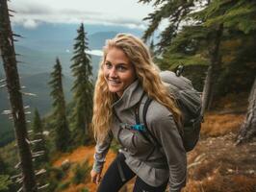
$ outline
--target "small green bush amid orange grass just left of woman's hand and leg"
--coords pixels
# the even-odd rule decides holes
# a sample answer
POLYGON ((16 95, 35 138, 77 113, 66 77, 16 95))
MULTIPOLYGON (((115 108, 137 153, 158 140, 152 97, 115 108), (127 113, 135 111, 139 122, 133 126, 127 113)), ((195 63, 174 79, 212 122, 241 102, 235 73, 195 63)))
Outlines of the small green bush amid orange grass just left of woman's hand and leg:
POLYGON ((91 166, 89 162, 86 160, 83 164, 77 164, 73 168, 74 176, 72 178, 72 182, 74 184, 82 183, 89 176, 91 170, 91 166))

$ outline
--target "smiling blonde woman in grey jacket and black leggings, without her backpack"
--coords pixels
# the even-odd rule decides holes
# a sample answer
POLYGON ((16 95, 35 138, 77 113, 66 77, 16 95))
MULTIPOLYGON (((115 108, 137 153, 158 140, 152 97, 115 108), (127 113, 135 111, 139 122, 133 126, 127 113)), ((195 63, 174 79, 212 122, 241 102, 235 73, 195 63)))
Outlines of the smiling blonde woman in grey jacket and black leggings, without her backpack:
POLYGON ((134 192, 163 192, 167 183, 171 192, 185 186, 187 158, 178 130, 181 113, 158 73, 141 39, 119 34, 107 41, 95 85, 92 117, 97 144, 90 175, 99 183, 98 192, 117 192, 135 176, 134 192), (147 129, 161 148, 146 139, 142 131, 133 129, 141 122, 136 120, 135 111, 141 113, 140 107, 148 97, 153 101, 146 113, 147 129), (113 137, 122 148, 101 180, 113 137))

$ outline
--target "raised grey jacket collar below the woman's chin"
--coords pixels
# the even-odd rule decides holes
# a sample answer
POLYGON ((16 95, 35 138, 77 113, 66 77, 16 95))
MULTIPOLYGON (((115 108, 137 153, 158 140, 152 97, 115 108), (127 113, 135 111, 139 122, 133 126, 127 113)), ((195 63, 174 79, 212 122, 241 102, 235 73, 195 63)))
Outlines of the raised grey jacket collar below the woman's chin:
POLYGON ((140 101, 142 94, 142 86, 139 80, 136 80, 124 90, 122 96, 113 104, 113 108, 118 111, 132 108, 140 101))

